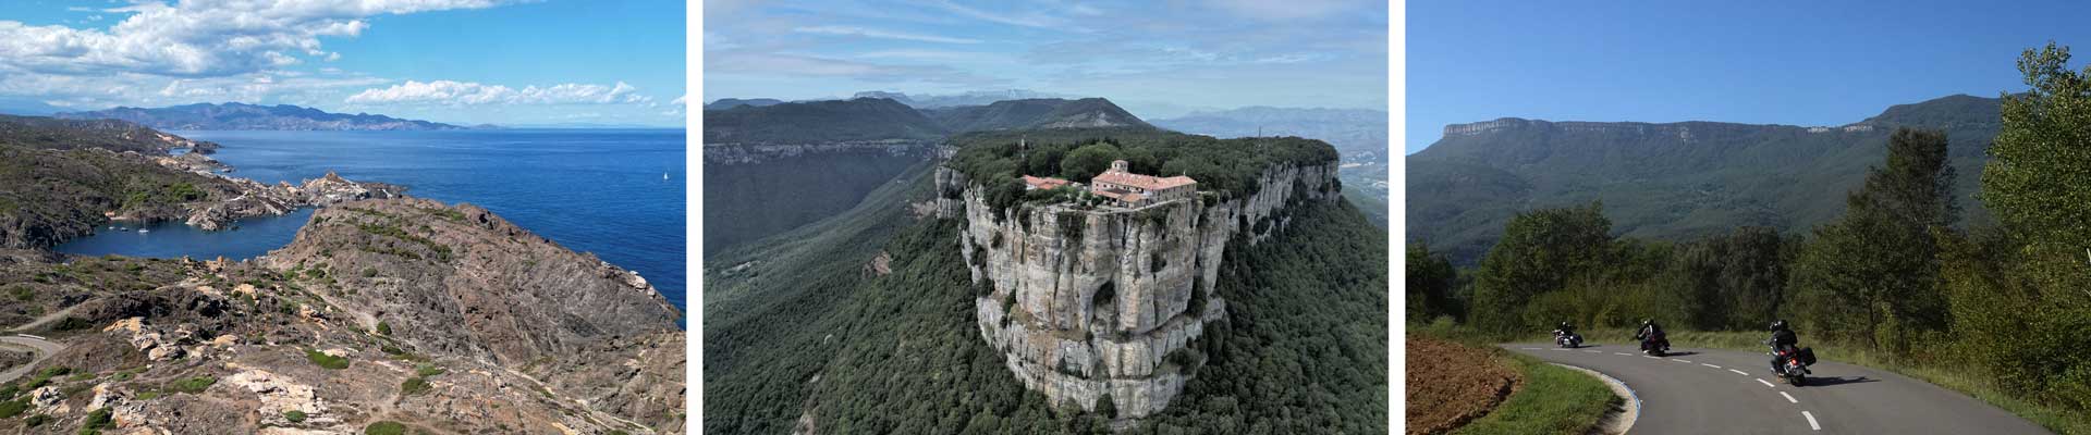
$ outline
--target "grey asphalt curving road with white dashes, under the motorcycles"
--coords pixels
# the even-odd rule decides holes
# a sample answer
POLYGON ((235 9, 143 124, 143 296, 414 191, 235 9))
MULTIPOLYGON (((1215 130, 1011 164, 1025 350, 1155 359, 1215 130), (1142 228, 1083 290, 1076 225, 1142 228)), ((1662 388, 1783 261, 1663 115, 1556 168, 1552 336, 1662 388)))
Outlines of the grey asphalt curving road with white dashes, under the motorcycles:
POLYGON ((1903 374, 1821 360, 1807 387, 1779 383, 1763 351, 1633 343, 1508 343, 1503 349, 1610 374, 1641 399, 1629 433, 2049 433, 1974 397, 1903 374))

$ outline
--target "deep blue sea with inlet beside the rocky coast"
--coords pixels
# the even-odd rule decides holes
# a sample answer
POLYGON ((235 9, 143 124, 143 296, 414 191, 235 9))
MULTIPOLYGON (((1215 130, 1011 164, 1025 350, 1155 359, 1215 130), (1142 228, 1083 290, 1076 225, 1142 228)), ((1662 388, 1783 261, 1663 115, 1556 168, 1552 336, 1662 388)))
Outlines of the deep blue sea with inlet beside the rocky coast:
MULTIPOLYGON (((684 303, 684 130, 174 132, 211 140, 232 176, 299 184, 337 171, 408 194, 473 203, 539 236, 640 272, 684 303)), ((201 232, 180 222, 98 228, 59 245, 82 255, 249 259, 291 243, 312 218, 251 218, 201 232)))

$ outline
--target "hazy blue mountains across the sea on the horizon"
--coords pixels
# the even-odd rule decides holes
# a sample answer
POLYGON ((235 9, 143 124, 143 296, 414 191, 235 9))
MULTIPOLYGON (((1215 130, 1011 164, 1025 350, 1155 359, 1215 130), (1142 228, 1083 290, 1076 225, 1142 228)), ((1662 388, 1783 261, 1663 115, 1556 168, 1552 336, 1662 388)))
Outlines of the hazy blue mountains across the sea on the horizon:
POLYGON ((370 113, 326 113, 293 105, 182 105, 161 109, 117 107, 107 111, 56 113, 63 119, 123 119, 157 130, 464 130, 450 123, 397 119, 370 113))

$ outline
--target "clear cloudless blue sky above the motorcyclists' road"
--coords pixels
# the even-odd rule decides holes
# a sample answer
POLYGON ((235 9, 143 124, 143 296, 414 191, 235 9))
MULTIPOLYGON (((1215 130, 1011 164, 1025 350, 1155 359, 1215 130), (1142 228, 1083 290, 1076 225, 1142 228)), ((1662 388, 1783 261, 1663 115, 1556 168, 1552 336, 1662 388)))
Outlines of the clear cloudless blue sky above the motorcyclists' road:
POLYGON ((2091 50, 2085 17, 2091 2, 1409 2, 1405 148, 1497 117, 1842 125, 1997 96, 2026 88, 2020 50, 2091 50))

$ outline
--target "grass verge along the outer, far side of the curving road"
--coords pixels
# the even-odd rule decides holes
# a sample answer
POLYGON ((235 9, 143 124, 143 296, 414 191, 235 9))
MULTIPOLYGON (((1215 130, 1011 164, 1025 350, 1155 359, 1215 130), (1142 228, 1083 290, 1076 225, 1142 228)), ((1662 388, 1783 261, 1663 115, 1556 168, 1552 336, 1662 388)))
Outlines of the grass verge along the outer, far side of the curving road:
MULTIPOLYGON (((1598 328, 1581 330, 1585 343, 1633 343, 1633 330, 1627 328, 1598 328)), ((1664 330, 1669 333, 1671 347, 1704 347, 1704 349, 1738 349, 1738 351, 1767 351, 1765 339, 1769 333, 1733 333, 1733 330, 1664 330)), ((1552 335, 1531 335, 1522 341, 1549 343, 1552 335)), ((2076 414, 2055 406, 2043 406, 2026 402, 2003 393, 1993 376, 1980 372, 1974 366, 1949 366, 1949 364, 1907 364, 1894 362, 1886 353, 1867 351, 1855 345, 1807 341, 1805 347, 1815 347, 1815 356, 1825 362, 1842 362, 1867 368, 1880 368, 1911 376, 1930 385, 1938 385, 1957 393, 1966 393, 1984 404, 2003 408, 2005 412, 2018 414, 2020 418, 2032 420, 2035 425, 2047 427, 2049 431, 2062 435, 2091 435, 2091 414, 2076 414)))

